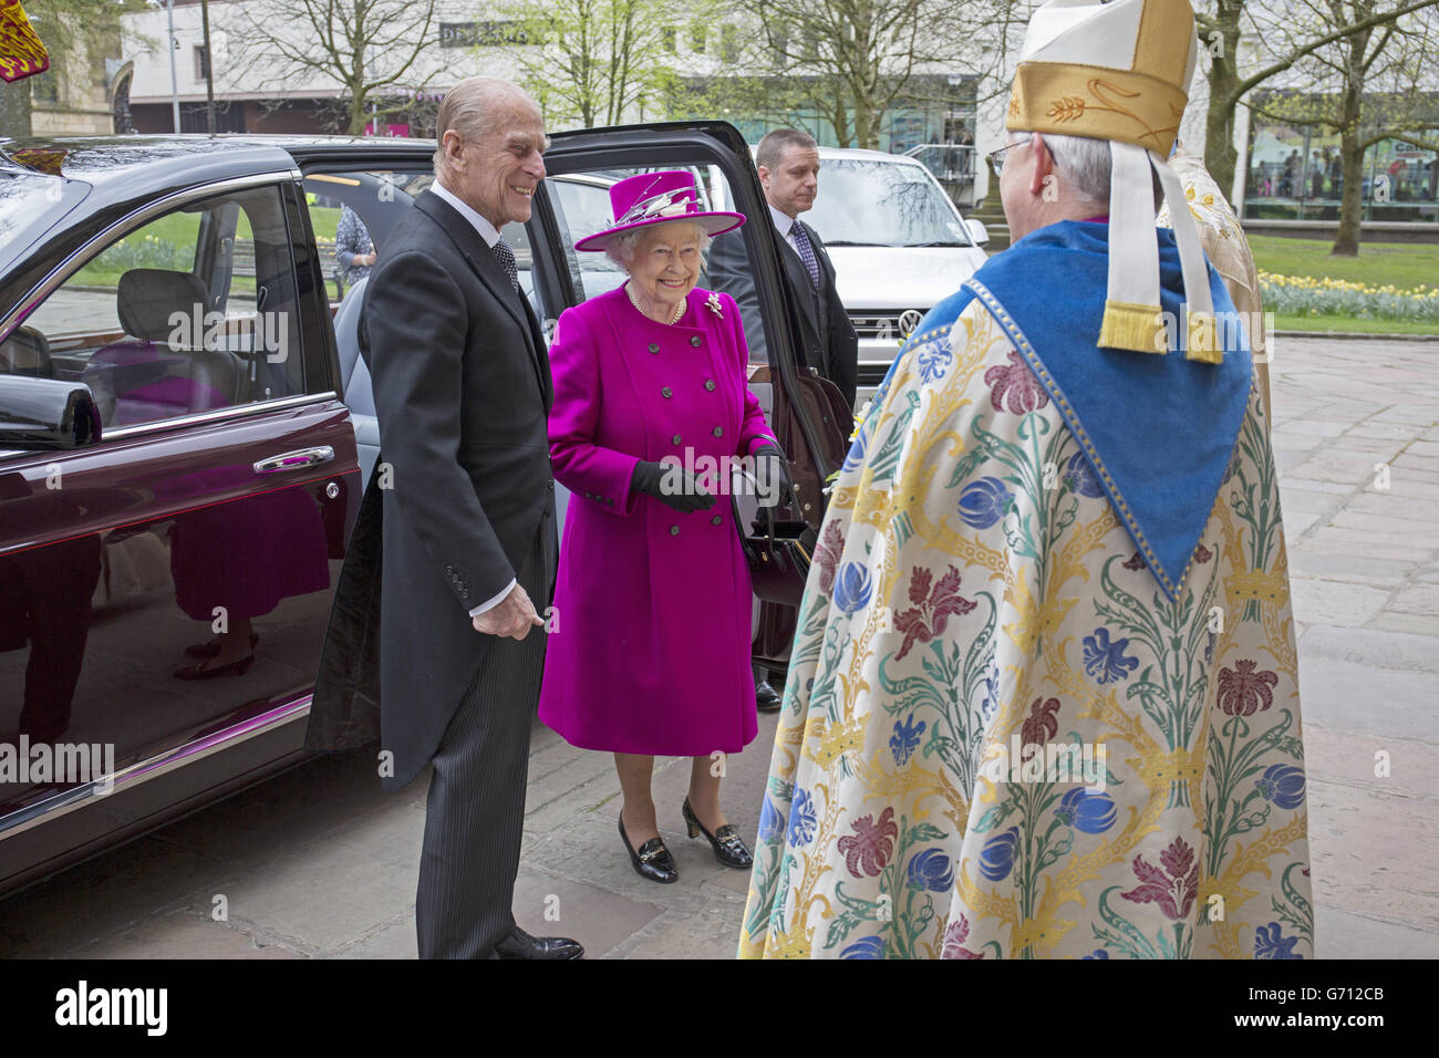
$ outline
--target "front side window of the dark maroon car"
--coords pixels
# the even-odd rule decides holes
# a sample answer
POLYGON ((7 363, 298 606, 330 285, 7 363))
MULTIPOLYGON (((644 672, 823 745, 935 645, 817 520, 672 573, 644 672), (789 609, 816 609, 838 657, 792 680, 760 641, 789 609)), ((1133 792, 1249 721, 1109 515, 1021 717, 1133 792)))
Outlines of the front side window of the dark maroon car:
POLYGON ((81 381, 106 428, 305 392, 278 187, 191 203, 96 248, 0 370, 81 381))

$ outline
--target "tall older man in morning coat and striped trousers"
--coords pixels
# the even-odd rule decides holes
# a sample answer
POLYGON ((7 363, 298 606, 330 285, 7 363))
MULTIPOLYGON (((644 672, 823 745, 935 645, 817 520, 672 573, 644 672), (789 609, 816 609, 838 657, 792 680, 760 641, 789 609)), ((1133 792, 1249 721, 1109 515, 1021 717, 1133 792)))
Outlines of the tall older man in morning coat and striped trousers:
POLYGON ((573 959, 511 914, 557 543, 548 356, 499 227, 530 219, 548 140, 534 101, 491 78, 449 92, 437 137, 435 186, 391 229, 360 320, 380 459, 308 744, 361 744, 378 704, 381 786, 433 767, 422 959, 573 959))

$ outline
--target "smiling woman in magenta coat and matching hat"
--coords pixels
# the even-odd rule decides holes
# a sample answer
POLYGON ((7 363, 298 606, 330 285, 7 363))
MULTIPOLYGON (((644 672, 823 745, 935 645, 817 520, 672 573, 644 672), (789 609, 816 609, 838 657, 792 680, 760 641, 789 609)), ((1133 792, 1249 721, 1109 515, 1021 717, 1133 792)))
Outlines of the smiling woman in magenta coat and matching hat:
POLYGON ((744 456, 763 487, 783 458, 747 386, 734 299, 695 289, 709 236, 744 217, 701 212, 685 171, 623 180, 610 203, 616 222, 576 249, 606 250, 629 279, 561 314, 550 348, 550 458, 573 497, 540 718, 573 746, 614 753, 630 862, 671 882, 656 754, 694 757, 689 836, 704 833, 722 864, 751 864, 720 809, 724 756, 757 731, 728 466, 744 456))

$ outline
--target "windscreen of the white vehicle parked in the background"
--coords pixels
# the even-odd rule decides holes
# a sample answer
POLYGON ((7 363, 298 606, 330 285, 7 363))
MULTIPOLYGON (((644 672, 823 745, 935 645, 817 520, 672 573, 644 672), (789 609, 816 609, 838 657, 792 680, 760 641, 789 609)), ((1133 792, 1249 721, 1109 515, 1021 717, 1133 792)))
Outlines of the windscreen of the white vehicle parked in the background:
POLYGON ((958 213, 922 166, 827 158, 804 222, 826 246, 970 246, 958 213))

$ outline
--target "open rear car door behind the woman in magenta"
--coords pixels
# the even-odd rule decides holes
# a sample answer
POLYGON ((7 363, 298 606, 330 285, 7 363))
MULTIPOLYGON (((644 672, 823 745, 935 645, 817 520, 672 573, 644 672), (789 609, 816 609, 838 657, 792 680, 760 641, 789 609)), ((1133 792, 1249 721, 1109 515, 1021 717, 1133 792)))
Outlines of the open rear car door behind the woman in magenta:
MULTIPOLYGON (((625 279, 604 255, 574 250, 576 239, 610 220, 609 187, 616 181, 645 171, 688 168, 712 202, 748 217, 737 232, 717 238, 717 245, 720 239, 731 240, 724 255, 728 263, 721 275, 711 256, 699 285, 731 294, 745 315, 750 387, 789 458, 800 507, 787 517, 803 518, 817 530, 827 478, 845 458, 853 420, 839 390, 800 360, 799 307, 783 281, 778 236, 740 131, 722 121, 696 121, 558 132, 545 153, 545 168, 548 176, 525 226, 528 245, 517 245, 515 255, 521 271, 530 269, 531 297, 547 334, 564 308, 614 289, 625 279)), ((508 239, 509 232, 505 235, 508 239)), ((754 656, 783 666, 794 619, 793 607, 757 603, 754 656)))

